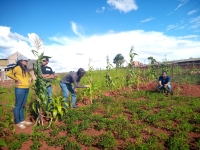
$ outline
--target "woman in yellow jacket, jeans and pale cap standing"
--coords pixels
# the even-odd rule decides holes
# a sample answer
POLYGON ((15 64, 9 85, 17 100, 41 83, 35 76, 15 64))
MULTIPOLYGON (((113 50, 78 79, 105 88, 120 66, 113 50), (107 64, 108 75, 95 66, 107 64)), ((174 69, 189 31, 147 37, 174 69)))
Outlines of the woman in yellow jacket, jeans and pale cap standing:
POLYGON ((29 93, 30 74, 27 71, 28 58, 21 55, 17 58, 16 66, 9 70, 6 75, 15 80, 15 107, 14 120, 17 127, 25 129, 31 125, 29 121, 25 121, 24 106, 29 93))

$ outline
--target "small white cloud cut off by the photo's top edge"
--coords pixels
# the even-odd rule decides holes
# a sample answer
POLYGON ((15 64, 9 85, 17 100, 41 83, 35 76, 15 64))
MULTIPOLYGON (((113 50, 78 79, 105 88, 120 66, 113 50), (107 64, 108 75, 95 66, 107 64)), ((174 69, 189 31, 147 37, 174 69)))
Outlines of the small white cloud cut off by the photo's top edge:
POLYGON ((115 9, 118 9, 120 12, 123 11, 125 13, 138 9, 135 0, 107 0, 107 3, 115 9))

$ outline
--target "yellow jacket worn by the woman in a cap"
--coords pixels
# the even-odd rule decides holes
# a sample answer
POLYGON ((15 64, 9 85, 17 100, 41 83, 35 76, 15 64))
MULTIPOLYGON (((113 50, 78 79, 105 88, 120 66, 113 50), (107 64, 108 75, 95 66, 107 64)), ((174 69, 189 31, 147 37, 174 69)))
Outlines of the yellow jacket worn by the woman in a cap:
POLYGON ((13 80, 19 80, 21 83, 16 85, 18 88, 29 88, 30 86, 30 76, 26 72, 25 74, 22 74, 22 69, 20 66, 15 67, 13 70, 9 70, 6 75, 13 79, 13 80))

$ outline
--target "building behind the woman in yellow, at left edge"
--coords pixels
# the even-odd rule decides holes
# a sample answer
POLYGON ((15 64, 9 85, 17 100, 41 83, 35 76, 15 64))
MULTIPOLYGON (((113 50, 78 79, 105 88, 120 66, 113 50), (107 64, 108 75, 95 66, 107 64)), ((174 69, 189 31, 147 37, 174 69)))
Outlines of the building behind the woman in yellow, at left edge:
MULTIPOLYGON (((17 62, 17 57, 20 55, 22 55, 22 54, 19 52, 15 52, 14 54, 11 54, 10 56, 8 56, 5 59, 0 59, 0 82, 10 80, 10 78, 8 78, 6 76, 6 72, 15 66, 15 64, 17 62)), ((28 66, 27 66, 28 71, 32 75, 33 79, 35 79, 35 75, 34 75, 34 71, 33 71, 34 63, 36 63, 36 60, 30 59, 28 61, 28 66)))

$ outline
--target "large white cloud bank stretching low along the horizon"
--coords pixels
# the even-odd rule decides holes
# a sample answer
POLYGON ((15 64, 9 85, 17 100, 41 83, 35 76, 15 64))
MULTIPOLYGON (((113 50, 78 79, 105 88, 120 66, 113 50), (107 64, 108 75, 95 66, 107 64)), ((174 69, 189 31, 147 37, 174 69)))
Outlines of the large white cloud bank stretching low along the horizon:
MULTIPOLYGON (((8 27, 4 27, 9 29, 8 27)), ((2 27, 0 27, 1 31, 2 27)), ((32 49, 26 41, 19 41, 9 38, 8 33, 0 32, 0 47, 6 55, 16 51, 32 58, 32 49), (7 42, 4 42, 8 38, 7 42), (14 44, 13 44, 14 43, 14 44), (4 48, 5 47, 5 48, 4 48), (11 48, 10 48, 11 47, 11 48)), ((32 34, 28 34, 29 37, 32 34)), ((91 65, 94 68, 106 67, 106 56, 113 62, 113 58, 121 53, 129 61, 129 51, 133 45, 135 52, 139 54, 135 60, 147 63, 147 57, 153 56, 158 61, 162 61, 165 55, 168 60, 184 59, 189 57, 200 57, 200 40, 198 35, 188 35, 182 37, 166 36, 161 32, 145 32, 143 30, 133 30, 124 32, 113 32, 102 35, 92 35, 84 37, 51 37, 52 44, 45 45, 45 55, 52 56, 50 64, 56 72, 67 72, 77 70, 79 67, 88 69, 88 58, 92 58, 91 65), (60 42, 60 43, 59 43, 60 42)), ((0 52, 0 56, 2 53, 0 52)))

